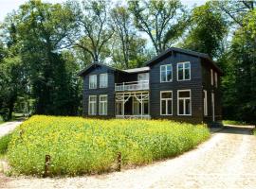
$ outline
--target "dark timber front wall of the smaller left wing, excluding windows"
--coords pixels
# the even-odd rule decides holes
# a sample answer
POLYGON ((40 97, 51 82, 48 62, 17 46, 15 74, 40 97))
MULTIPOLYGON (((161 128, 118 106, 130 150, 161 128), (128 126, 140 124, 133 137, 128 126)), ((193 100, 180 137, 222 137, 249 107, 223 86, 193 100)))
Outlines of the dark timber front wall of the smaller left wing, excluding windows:
MULTIPOLYGON (((83 96, 82 96, 82 114, 88 116, 89 95, 97 95, 97 115, 99 116, 99 97, 100 94, 107 94, 107 115, 101 117, 115 116, 115 72, 104 66, 98 66, 83 77, 83 96), (108 87, 100 88, 100 74, 108 74, 108 87), (89 76, 97 75, 97 89, 89 89, 89 76)), ((94 116, 97 116, 94 115, 94 116)))

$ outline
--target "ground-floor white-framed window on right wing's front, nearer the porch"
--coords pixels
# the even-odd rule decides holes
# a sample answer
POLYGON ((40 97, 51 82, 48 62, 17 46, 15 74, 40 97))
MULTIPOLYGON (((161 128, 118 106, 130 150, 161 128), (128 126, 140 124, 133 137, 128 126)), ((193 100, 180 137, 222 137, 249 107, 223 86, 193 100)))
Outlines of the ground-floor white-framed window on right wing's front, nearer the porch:
POLYGON ((160 92, 160 114, 172 115, 173 114, 173 92, 165 91, 160 92))

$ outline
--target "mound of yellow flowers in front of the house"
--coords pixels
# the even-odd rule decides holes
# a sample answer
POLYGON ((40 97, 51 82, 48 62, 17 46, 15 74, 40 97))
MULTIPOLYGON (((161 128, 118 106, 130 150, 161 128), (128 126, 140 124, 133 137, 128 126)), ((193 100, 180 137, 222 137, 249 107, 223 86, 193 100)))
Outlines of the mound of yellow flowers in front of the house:
POLYGON ((166 120, 100 120, 35 115, 12 134, 9 164, 21 174, 43 175, 46 154, 53 175, 113 170, 122 164, 151 163, 174 157, 207 140, 203 125, 166 120))

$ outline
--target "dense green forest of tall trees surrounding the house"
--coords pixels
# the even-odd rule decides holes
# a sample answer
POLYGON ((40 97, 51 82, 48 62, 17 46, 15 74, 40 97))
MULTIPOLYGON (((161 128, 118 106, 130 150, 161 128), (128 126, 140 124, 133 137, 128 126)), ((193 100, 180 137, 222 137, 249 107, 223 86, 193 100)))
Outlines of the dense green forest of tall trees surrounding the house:
POLYGON ((207 53, 223 69, 225 119, 256 122, 256 1, 30 0, 0 26, 0 114, 79 115, 92 62, 143 66, 171 46, 207 53))

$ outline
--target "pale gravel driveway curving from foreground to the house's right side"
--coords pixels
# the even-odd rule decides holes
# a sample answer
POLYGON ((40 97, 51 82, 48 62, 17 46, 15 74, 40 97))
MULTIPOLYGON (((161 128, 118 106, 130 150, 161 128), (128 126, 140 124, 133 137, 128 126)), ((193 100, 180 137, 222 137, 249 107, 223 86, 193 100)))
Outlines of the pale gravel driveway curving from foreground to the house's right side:
POLYGON ((256 137, 229 127, 174 159, 104 174, 63 179, 7 178, 0 188, 256 188, 256 137))

